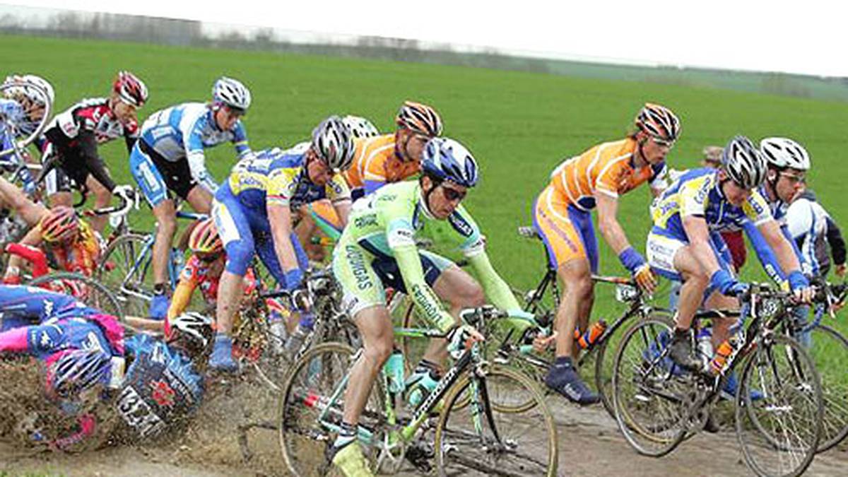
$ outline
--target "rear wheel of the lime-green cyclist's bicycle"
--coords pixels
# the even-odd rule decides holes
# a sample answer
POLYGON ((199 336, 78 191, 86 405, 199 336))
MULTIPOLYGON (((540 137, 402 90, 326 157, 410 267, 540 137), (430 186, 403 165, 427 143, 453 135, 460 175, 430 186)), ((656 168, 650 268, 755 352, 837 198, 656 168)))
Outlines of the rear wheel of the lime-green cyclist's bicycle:
MULTIPOLYGON (((342 422, 343 393, 355 356, 348 345, 317 345, 288 373, 280 394, 277 428, 282 457, 291 474, 318 476, 329 472, 332 464, 328 457, 335 430, 342 422)), ((382 386, 377 381, 360 417, 360 429, 383 429, 382 386)), ((373 463, 376 449, 363 449, 373 463)))

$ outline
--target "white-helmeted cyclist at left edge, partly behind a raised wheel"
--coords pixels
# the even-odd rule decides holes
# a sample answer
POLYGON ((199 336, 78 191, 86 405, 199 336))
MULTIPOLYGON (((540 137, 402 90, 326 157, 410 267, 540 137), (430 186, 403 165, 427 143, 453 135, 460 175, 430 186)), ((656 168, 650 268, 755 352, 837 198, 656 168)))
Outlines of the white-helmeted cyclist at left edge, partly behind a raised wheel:
MULTIPOLYGON (((6 89, 4 97, 0 98, 0 150, 8 150, 14 148, 16 138, 27 137, 36 131, 45 119, 47 105, 53 104, 55 93, 47 80, 35 75, 7 76, 3 85, 18 85, 6 89)), ((35 143, 38 149, 42 149, 43 138, 37 137, 35 143)), ((20 160, 31 161, 26 151, 24 154, 25 157, 20 160)), ((8 171, 14 171, 19 165, 19 160, 0 157, 0 166, 8 171)), ((25 192, 32 194, 36 184, 28 170, 21 172, 21 180, 25 192)))

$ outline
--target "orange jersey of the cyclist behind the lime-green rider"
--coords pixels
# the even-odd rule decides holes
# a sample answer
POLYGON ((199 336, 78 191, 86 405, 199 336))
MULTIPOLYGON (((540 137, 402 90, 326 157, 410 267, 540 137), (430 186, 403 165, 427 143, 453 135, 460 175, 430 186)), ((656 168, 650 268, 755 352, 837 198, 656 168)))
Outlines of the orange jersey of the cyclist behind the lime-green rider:
POLYGON ((344 172, 350 188, 369 194, 388 182, 400 182, 420 171, 417 161, 402 162, 394 152, 394 133, 354 140, 354 163, 344 172))

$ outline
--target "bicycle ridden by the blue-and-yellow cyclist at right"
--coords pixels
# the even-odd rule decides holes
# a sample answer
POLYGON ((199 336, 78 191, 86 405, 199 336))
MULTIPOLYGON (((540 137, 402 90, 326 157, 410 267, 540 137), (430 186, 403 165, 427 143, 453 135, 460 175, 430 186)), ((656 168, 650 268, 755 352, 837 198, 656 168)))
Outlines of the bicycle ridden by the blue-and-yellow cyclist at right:
MULTIPOLYGON (((613 370, 616 423, 640 454, 666 455, 705 428, 728 376, 739 367, 734 420, 745 463, 758 475, 801 474, 822 433, 821 380, 804 348, 780 332, 789 294, 755 283, 740 300, 734 327, 739 345, 729 347, 725 362, 713 358, 712 373, 686 372, 671 361, 670 320, 652 318, 628 329, 613 370), (754 390, 762 399, 752 397, 754 390)), ((695 326, 719 315, 701 312, 695 326)))

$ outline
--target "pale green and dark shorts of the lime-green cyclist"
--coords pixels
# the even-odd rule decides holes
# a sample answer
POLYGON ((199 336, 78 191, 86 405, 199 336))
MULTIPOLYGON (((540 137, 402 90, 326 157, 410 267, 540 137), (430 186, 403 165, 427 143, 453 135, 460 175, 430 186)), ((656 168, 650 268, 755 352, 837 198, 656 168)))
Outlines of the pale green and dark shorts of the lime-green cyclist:
MULTIPOLYGON (((424 280, 432 286, 445 269, 455 266, 441 255, 420 250, 424 280)), ((343 290, 343 307, 351 317, 371 306, 386 306, 386 288, 407 293, 398 262, 392 257, 371 258, 359 245, 347 244, 333 251, 332 272, 343 290)))

